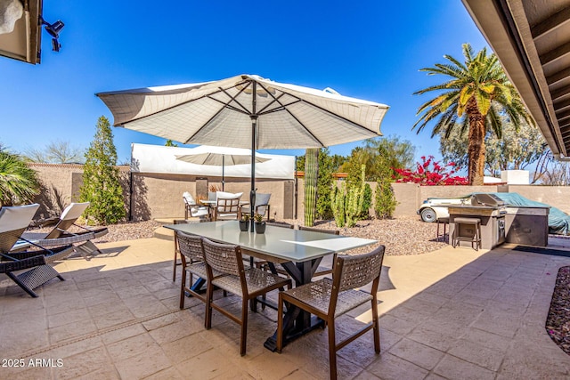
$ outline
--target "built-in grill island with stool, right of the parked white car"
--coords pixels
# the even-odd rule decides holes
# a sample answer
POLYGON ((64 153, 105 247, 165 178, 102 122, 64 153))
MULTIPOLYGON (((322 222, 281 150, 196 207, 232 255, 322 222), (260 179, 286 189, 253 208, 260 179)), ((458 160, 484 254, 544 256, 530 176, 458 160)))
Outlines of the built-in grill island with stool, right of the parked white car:
MULTIPOLYGON (((473 194, 469 203, 449 206, 450 242, 454 236, 471 238, 473 226, 459 224, 455 218, 477 218, 481 225, 481 248, 493 249, 504 242, 526 246, 546 247, 549 239, 548 206, 505 206, 493 194, 473 194), (456 234, 457 233, 457 234, 456 234)), ((460 247, 471 243, 460 241, 460 247)))

